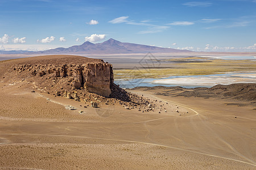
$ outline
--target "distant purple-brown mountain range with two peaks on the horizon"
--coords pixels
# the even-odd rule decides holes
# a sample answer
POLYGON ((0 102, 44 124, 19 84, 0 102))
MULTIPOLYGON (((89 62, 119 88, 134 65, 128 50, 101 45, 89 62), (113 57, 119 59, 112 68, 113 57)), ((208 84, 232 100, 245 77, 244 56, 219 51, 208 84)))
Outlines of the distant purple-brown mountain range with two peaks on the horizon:
POLYGON ((189 50, 178 50, 172 48, 160 48, 157 46, 133 44, 120 42, 114 39, 93 44, 86 41, 82 45, 74 45, 69 48, 56 48, 40 52, 12 50, 0 50, 0 54, 123 54, 123 53, 179 53, 191 52, 189 50))

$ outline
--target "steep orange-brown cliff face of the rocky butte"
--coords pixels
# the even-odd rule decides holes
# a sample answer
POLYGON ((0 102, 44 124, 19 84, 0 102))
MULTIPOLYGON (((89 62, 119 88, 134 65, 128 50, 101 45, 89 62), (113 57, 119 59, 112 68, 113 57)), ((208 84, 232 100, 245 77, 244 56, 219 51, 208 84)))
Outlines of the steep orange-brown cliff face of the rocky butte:
POLYGON ((81 65, 16 65, 13 70, 24 78, 25 75, 26 78, 39 76, 46 80, 52 79, 53 82, 57 79, 61 88, 71 85, 72 88, 85 89, 106 97, 112 93, 114 82, 112 65, 103 61, 81 65))

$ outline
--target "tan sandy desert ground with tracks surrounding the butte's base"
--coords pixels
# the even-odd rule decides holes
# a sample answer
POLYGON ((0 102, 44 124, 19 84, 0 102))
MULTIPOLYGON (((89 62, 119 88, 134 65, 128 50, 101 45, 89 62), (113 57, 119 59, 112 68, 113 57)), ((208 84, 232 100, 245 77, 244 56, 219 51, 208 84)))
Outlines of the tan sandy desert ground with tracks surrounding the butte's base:
POLYGON ((90 108, 0 83, 0 169, 256 169, 253 107, 134 92, 167 112, 90 108))

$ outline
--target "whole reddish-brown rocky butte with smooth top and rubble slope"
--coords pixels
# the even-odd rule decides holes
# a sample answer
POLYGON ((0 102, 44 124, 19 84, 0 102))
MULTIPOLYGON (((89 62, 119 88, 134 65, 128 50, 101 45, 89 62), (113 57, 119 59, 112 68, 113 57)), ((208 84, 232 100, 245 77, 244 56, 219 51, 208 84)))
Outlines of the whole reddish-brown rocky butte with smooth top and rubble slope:
POLYGON ((39 56, 0 62, 3 82, 30 84, 36 90, 80 100, 88 93, 129 101, 114 84, 112 65, 81 56, 39 56))

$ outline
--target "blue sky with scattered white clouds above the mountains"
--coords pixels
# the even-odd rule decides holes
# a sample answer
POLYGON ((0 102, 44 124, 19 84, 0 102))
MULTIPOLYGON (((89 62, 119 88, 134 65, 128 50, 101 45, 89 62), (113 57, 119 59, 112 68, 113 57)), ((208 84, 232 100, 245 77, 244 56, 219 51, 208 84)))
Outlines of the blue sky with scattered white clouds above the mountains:
POLYGON ((256 0, 0 0, 0 50, 85 41, 256 52, 256 0))

